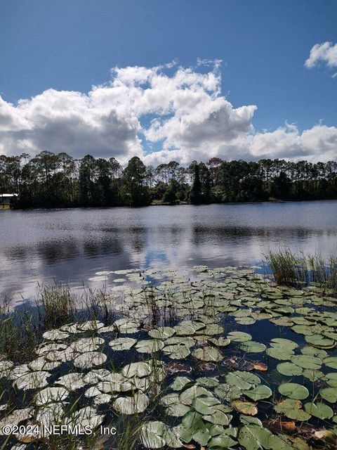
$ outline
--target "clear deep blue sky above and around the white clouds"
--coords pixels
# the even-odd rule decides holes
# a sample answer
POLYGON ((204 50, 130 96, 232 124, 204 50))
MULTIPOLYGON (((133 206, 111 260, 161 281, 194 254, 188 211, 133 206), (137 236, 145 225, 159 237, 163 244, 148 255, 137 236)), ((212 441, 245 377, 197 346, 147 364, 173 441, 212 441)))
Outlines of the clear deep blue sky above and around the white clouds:
POLYGON ((50 88, 88 93, 116 66, 176 59, 206 73, 197 58, 220 59, 221 95, 233 108, 257 105, 254 132, 336 127, 337 68, 304 65, 312 46, 336 43, 336 18, 337 2, 324 0, 2 0, 0 95, 15 106, 50 88))

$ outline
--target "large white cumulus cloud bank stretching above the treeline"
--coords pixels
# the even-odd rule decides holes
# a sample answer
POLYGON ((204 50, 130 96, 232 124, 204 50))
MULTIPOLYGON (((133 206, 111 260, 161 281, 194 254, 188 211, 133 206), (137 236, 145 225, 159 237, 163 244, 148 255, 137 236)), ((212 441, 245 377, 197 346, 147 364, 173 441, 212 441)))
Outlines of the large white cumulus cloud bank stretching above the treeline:
POLYGON ((91 153, 122 164, 138 155, 153 165, 213 156, 336 159, 336 127, 257 132, 257 106, 234 107, 220 86, 220 60, 198 60, 197 68, 114 68, 88 93, 48 89, 16 105, 0 97, 0 153, 91 153))

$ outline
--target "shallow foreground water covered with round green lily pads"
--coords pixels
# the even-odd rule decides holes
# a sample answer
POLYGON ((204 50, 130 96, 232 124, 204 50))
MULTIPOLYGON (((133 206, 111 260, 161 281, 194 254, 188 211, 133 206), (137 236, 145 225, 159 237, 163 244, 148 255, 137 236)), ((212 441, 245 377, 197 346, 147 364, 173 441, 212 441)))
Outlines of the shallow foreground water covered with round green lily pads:
POLYGON ((233 266, 118 276, 124 281, 107 300, 112 323, 65 324, 44 333, 32 361, 0 361, 1 426, 103 424, 117 436, 72 437, 73 446, 19 436, 24 449, 334 448, 337 314, 329 293, 278 288, 233 266))

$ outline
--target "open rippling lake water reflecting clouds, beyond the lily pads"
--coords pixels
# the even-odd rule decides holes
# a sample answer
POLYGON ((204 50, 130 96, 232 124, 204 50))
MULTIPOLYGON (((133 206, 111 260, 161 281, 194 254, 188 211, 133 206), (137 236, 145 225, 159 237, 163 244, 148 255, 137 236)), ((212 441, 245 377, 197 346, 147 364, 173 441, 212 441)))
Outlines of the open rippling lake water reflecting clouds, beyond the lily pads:
POLYGON ((268 248, 329 256, 337 201, 0 212, 0 294, 53 279, 98 288, 129 268, 260 264, 268 248))

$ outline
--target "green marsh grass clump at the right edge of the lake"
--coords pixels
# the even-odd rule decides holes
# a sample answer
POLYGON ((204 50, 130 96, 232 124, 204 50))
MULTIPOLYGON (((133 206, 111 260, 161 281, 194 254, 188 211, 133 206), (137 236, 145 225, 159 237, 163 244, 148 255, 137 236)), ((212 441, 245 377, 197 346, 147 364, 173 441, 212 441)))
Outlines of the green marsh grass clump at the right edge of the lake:
POLYGON ((337 256, 324 259, 319 253, 296 255, 289 248, 265 255, 278 285, 303 287, 315 283, 323 293, 337 293, 337 256))

